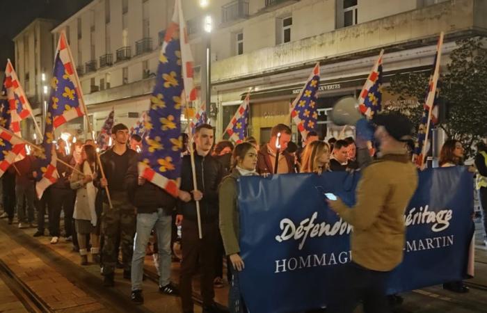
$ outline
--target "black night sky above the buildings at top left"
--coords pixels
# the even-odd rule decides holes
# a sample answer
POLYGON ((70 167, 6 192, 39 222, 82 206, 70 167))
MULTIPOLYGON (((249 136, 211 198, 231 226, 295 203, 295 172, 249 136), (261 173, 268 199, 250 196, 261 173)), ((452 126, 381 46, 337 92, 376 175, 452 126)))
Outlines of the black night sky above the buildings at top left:
POLYGON ((12 38, 37 17, 63 22, 91 0, 0 0, 0 68, 14 62, 12 38))

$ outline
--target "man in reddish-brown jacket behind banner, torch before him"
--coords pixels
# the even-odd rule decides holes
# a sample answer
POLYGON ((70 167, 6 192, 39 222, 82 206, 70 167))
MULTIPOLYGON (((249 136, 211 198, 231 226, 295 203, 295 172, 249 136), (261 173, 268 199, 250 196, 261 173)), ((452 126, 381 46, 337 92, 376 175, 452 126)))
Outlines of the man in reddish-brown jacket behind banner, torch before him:
POLYGON ((285 174, 294 171, 294 157, 285 151, 287 143, 291 141, 291 129, 287 125, 278 124, 272 127, 269 143, 262 145, 257 153, 257 172, 259 174, 274 173, 277 153, 276 141, 279 133, 280 152, 277 174, 285 174))

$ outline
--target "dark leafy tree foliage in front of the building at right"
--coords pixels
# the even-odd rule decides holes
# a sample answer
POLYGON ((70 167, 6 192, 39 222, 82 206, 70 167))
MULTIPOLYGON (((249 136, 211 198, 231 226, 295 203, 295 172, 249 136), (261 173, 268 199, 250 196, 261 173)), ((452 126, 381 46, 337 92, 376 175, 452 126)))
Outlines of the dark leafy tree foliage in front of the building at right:
MULTIPOLYGON (((446 110, 446 119, 438 125, 448 138, 463 143, 465 157, 472 157, 473 147, 480 138, 487 136, 487 49, 483 38, 470 38, 456 42, 457 48, 449 54, 446 69, 440 77, 440 97, 446 110)), ((390 106, 388 110, 400 111, 410 117, 415 129, 419 125, 429 73, 411 72, 397 74, 388 91, 399 99, 418 99, 416 104, 390 106)))

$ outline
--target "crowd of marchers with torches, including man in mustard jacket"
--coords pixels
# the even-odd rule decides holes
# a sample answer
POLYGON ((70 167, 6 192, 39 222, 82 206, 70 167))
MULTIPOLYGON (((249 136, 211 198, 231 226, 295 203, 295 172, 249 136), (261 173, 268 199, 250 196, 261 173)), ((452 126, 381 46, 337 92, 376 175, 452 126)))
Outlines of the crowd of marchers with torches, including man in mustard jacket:
MULTIPOLYGON (((330 171, 362 170, 355 207, 347 209, 340 199, 329 201, 330 208, 356 230, 351 236, 353 262, 342 277, 346 286, 340 290, 345 292, 337 294, 335 298, 340 301, 331 303, 329 310, 351 312, 349 307, 362 299, 367 312, 387 312, 384 303, 386 274, 402 259, 402 215, 415 191, 417 172, 410 162, 406 144, 410 139, 410 125, 404 119, 390 116, 375 122, 378 126, 376 141, 381 143, 377 161, 373 161, 363 141, 358 144, 352 137, 330 138, 325 142, 316 132, 310 131, 303 138, 303 147, 298 147, 291 141, 291 129, 279 124, 272 128, 268 143, 259 146, 255 138, 248 137, 234 146, 230 141, 215 144, 213 127, 199 125, 193 137, 194 173, 187 136, 184 136, 177 198, 138 176, 138 152, 143 140, 138 135, 130 136, 129 129, 118 124, 111 131, 113 145, 100 155, 103 173, 97 163, 93 141, 84 144, 78 141, 71 145, 71 151, 66 149, 64 141, 58 141, 56 154, 63 161, 56 165, 59 177, 40 199, 35 192, 39 156, 34 152, 15 162, 2 177, 4 213, 1 217, 12 224, 17 214, 19 228, 37 227, 34 236, 45 236, 47 228, 51 244, 58 243, 63 234, 64 240, 72 242, 73 249, 79 252, 83 266, 89 264, 90 252, 91 262, 100 264, 106 287, 113 287, 115 268, 120 266, 123 278, 131 280, 130 297, 134 303, 144 301, 143 268, 147 245, 153 236, 159 291, 180 296, 182 312, 193 312, 192 282, 196 273, 200 273, 203 312, 221 312, 221 307, 214 302, 214 288, 223 287, 225 279, 230 284, 230 312, 246 312, 238 283, 239 272, 244 270, 245 264, 239 255, 237 179, 273 173, 321 175, 330 171), (366 157, 360 158, 360 154, 366 157), (359 159, 366 161, 359 162, 359 159), (397 172, 401 172, 404 179, 397 179, 397 172), (397 187, 394 190, 400 192, 386 195, 383 191, 387 188, 377 188, 378 184, 394 185, 397 187), (383 207, 388 209, 378 211, 383 207), (60 230, 61 211, 64 232, 60 230), (173 252, 178 228, 181 230, 181 259, 173 252), (388 235, 391 230, 394 235, 388 235), (374 247, 367 242, 374 242, 374 247), (383 257, 384 250, 390 255, 383 257), (373 261, 378 255, 383 262, 373 261), (223 277, 224 260, 228 269, 226 278, 223 277), (181 262, 178 287, 170 282, 171 262, 181 262), (364 290, 367 293, 362 292, 364 290), (374 292, 369 292, 371 290, 374 292), (351 298, 351 294, 358 298, 351 298), (343 296, 348 296, 348 300, 343 296)), ((485 144, 477 149, 477 188, 481 205, 487 209, 487 149, 485 144)), ((462 164, 461 143, 447 141, 440 154, 440 166, 462 164)), ((487 227, 487 214, 484 214, 484 226, 487 227)), ((444 287, 456 292, 468 291, 462 282, 451 282, 444 287)))

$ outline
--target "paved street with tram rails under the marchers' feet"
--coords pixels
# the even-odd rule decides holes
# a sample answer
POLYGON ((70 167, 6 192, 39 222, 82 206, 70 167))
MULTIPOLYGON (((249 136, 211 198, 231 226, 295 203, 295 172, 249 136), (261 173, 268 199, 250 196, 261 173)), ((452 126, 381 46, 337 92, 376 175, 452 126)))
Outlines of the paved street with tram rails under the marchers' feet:
MULTIPOLYGON (((15 226, 0 220, 0 265, 6 266, 51 312, 180 312, 178 297, 159 294, 150 256, 145 262, 148 274, 144 281, 145 303, 137 306, 129 300, 130 282, 122 279, 121 270, 115 277, 115 288, 105 289, 99 266, 79 266, 79 255, 71 251, 71 243, 61 239, 57 245, 51 245, 49 237, 33 238, 34 229, 19 230, 15 226)), ((468 280, 468 294, 454 294, 441 286, 415 290, 403 295, 404 303, 395 307, 394 312, 486 312, 487 250, 481 246, 482 241, 482 234, 477 231, 475 278, 468 280)), ((172 275, 173 282, 177 282, 177 262, 173 262, 172 275)), ((29 303, 22 297, 22 289, 15 288, 5 273, 0 273, 0 278, 0 312, 29 312, 27 307, 33 301, 29 303)), ((198 301, 198 280, 194 286, 198 301)), ((218 303, 227 304, 227 292, 227 287, 216 289, 218 303)), ((201 312, 199 305, 195 305, 195 312, 201 312)), ((356 312, 362 311, 358 308, 356 312)))

